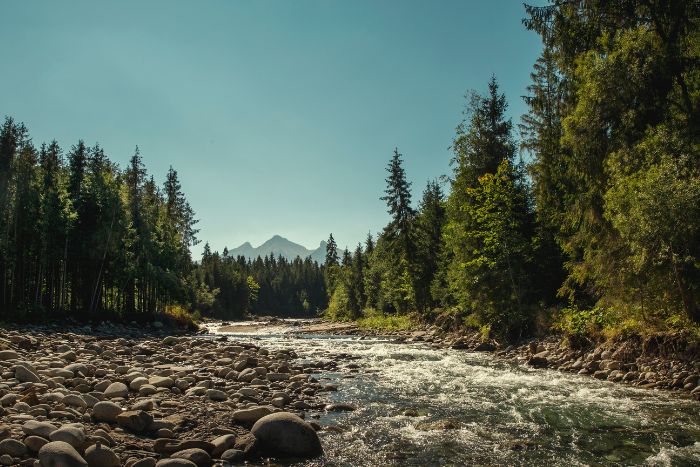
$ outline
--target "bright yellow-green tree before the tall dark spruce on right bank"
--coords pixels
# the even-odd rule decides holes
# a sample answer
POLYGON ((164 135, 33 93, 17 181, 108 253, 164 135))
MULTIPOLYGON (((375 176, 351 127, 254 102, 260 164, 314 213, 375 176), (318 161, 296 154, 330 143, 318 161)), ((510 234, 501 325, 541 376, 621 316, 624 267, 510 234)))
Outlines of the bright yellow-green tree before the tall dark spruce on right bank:
POLYGON ((445 237, 453 259, 448 278, 462 309, 481 324, 520 333, 528 320, 533 249, 526 193, 504 160, 467 189, 467 222, 449 223, 445 237))

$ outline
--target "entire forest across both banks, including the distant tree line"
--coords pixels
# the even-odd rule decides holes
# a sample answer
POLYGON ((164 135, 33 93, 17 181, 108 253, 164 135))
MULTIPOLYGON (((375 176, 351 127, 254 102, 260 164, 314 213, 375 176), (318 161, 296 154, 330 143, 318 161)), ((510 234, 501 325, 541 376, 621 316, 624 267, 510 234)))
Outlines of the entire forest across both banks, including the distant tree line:
MULTIPOLYGON (((493 77, 471 92, 452 173, 414 197, 396 149, 390 221, 324 265, 190 249, 197 219, 138 148, 0 134, 0 300, 13 318, 74 315, 431 319, 485 335, 694 330, 700 323, 700 6, 526 6, 543 50, 507 117, 493 77)), ((406 155, 405 157, 410 157, 406 155)), ((378 187, 379 188, 379 187, 378 187)))

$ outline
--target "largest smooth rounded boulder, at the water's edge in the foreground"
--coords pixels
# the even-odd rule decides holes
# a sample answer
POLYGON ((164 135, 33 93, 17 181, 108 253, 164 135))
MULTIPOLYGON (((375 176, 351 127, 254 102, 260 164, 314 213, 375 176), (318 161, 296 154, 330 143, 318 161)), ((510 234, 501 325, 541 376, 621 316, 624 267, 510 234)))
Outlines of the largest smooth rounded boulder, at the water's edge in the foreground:
POLYGON ((266 415, 250 432, 265 455, 311 458, 323 453, 316 430, 293 413, 266 415))

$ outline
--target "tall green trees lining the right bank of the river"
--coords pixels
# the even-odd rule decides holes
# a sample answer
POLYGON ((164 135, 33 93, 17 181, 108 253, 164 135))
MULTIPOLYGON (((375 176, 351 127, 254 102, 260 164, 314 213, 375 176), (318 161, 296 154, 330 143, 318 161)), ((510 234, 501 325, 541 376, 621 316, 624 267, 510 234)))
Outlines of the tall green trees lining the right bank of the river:
POLYGON ((354 253, 328 244, 328 316, 437 310, 509 338, 699 334, 699 10, 526 6, 543 51, 517 134, 494 78, 468 97, 448 194, 431 181, 417 208, 395 150, 389 224, 354 253))

